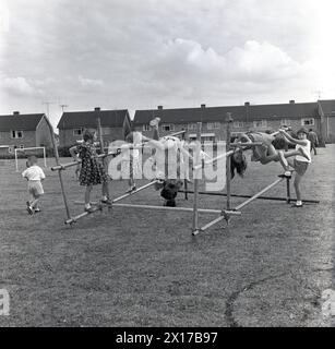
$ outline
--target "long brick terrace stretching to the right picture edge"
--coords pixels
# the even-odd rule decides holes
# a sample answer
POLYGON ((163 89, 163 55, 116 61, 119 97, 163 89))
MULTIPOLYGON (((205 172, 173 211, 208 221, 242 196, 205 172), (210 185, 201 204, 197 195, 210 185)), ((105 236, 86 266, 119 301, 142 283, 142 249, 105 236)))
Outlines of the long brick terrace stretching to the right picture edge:
POLYGON ((332 142, 335 137, 335 112, 330 113, 334 108, 335 100, 316 103, 295 103, 276 105, 251 105, 230 107, 206 107, 163 109, 158 106, 155 110, 137 110, 134 117, 136 130, 151 136, 148 122, 154 117, 159 117, 160 135, 177 132, 182 129, 188 130, 189 137, 194 137, 196 133, 196 122, 202 122, 202 141, 225 141, 227 112, 231 112, 234 122, 231 131, 234 133, 246 131, 268 131, 277 130, 283 125, 298 130, 301 127, 315 131, 322 142, 332 142), (324 115, 320 109, 324 109, 324 115), (333 117, 332 117, 333 116, 333 117), (326 124, 328 123, 328 129, 326 124), (334 123, 334 124, 333 124, 334 123), (333 139, 332 139, 333 137, 333 139))

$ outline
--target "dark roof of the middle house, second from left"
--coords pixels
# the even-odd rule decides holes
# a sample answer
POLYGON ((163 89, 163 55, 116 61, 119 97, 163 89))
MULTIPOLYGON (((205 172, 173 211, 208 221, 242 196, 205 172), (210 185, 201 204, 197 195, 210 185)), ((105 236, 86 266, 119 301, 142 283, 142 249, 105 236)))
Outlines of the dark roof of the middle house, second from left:
POLYGON ((96 128, 98 117, 100 118, 101 127, 122 128, 124 118, 129 118, 129 112, 127 109, 100 111, 67 111, 63 112, 57 128, 60 130, 73 128, 96 128))

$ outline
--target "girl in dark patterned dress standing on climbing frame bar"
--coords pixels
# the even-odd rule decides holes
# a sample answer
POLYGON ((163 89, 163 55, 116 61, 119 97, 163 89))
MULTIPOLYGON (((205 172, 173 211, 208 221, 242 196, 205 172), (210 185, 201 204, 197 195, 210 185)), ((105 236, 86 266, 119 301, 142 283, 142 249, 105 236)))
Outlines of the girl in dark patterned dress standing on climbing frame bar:
POLYGON ((86 186, 85 191, 85 212, 92 213, 93 208, 89 203, 91 191, 93 185, 103 184, 103 204, 111 204, 109 200, 108 178, 104 165, 97 159, 95 141, 96 132, 86 130, 83 134, 84 142, 70 148, 70 154, 74 161, 77 161, 76 154, 82 160, 82 167, 79 176, 80 184, 86 186))

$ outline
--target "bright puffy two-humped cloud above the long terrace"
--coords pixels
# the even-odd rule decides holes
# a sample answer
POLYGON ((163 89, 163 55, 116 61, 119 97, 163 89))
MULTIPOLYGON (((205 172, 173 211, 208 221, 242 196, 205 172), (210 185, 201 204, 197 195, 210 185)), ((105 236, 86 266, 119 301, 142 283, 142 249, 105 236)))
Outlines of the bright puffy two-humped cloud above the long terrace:
POLYGON ((212 47, 200 43, 176 38, 163 45, 156 61, 155 76, 187 79, 188 82, 217 84, 220 80, 252 82, 276 82, 289 80, 301 73, 302 65, 283 49, 270 43, 248 40, 242 47, 232 47, 219 55, 212 47))

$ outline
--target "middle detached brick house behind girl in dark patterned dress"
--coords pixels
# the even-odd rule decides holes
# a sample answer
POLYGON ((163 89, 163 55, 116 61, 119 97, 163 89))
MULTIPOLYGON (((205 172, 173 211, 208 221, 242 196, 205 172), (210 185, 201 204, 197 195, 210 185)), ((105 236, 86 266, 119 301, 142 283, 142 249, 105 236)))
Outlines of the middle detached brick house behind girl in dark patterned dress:
POLYGON ((111 141, 123 140, 123 122, 130 116, 124 110, 100 110, 63 112, 57 128, 59 130, 59 146, 70 147, 82 140, 83 132, 97 130, 98 118, 100 119, 104 146, 107 147, 111 141))

